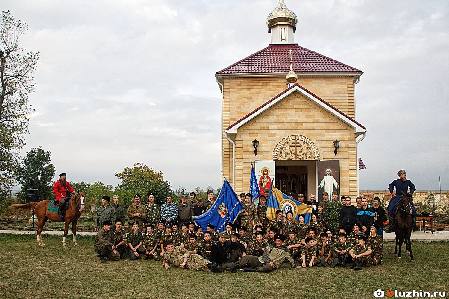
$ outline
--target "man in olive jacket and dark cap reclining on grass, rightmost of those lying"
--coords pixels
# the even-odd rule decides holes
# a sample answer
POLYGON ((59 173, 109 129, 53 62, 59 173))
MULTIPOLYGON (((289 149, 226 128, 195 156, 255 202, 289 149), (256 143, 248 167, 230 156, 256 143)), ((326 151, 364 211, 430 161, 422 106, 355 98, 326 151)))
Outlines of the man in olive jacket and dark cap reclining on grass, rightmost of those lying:
POLYGON ((269 272, 277 269, 286 260, 292 268, 300 268, 291 257, 290 251, 284 245, 285 236, 277 234, 274 236, 275 244, 268 245, 262 256, 243 256, 238 263, 233 264, 227 269, 229 272, 237 272, 237 269, 245 265, 250 267, 244 268, 244 272, 269 272))

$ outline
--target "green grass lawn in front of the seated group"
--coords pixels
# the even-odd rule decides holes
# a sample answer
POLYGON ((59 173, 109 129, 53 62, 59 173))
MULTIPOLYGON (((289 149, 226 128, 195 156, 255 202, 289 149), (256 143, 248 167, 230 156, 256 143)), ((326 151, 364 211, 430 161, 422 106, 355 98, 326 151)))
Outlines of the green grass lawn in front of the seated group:
POLYGON ((355 272, 349 267, 291 269, 272 273, 207 273, 163 269, 153 260, 100 264, 93 237, 0 234, 0 298, 374 298, 374 290, 445 291, 449 297, 449 243, 413 243, 416 263, 384 246, 383 264, 355 272))

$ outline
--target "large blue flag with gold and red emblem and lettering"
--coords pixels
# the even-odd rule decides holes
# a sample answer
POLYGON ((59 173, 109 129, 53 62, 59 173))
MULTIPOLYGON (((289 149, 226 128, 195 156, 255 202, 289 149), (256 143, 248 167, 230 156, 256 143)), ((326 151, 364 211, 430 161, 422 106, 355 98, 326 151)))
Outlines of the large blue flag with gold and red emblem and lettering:
POLYGON ((232 190, 228 180, 225 179, 221 187, 220 194, 204 214, 194 216, 193 220, 196 225, 202 227, 202 231, 206 231, 209 223, 215 225, 215 231, 222 232, 225 230, 226 222, 234 222, 238 214, 245 211, 242 203, 237 198, 237 194, 232 190))

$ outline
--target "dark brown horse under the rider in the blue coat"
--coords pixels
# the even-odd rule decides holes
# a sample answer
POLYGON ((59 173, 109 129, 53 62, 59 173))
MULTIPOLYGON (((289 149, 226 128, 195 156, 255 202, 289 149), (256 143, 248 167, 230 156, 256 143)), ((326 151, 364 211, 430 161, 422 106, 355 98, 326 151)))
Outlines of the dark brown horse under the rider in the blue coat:
POLYGON ((401 260, 401 247, 405 239, 405 249, 409 252, 410 261, 414 262, 412 253, 412 242, 410 240, 412 234, 412 204, 413 197, 410 193, 402 193, 402 198, 396 208, 396 214, 394 217, 394 232, 396 234, 396 247, 394 254, 397 253, 397 244, 399 242, 399 253, 397 260, 401 260))

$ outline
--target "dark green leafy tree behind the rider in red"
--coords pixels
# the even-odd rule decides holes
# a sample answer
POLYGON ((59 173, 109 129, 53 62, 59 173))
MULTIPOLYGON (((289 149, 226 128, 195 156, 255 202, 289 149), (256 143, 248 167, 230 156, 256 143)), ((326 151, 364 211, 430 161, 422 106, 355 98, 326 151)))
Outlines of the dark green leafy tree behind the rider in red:
POLYGON ((21 200, 25 200, 26 189, 38 189, 40 199, 54 199, 53 177, 55 167, 52 155, 42 147, 31 148, 22 163, 17 165, 16 180, 22 185, 21 200))

